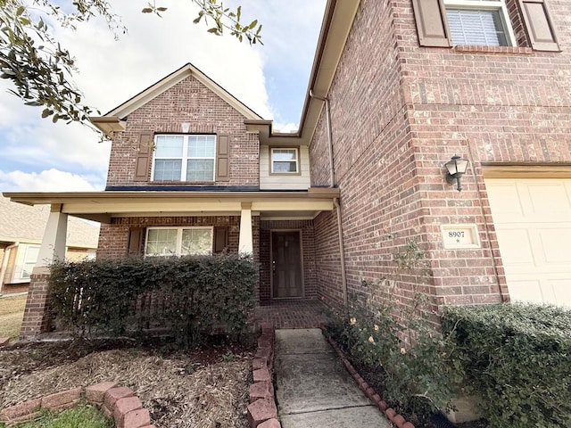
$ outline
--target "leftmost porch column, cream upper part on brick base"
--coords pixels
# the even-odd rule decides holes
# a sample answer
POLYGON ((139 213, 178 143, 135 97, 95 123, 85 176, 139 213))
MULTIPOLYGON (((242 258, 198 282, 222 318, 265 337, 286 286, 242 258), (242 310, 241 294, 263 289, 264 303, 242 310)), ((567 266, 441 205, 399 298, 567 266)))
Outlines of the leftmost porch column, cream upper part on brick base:
POLYGON ((65 259, 68 215, 62 213, 61 204, 53 204, 47 218, 46 230, 39 249, 36 266, 29 278, 28 299, 24 309, 20 337, 33 339, 49 326, 47 308, 48 266, 54 260, 65 259))

